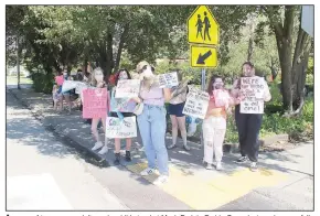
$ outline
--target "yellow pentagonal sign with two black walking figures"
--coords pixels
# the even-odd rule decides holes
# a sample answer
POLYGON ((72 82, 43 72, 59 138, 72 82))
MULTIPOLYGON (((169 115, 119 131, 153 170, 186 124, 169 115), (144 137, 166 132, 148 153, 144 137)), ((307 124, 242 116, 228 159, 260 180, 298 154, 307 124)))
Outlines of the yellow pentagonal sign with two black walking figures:
POLYGON ((218 44, 218 24, 206 6, 198 7, 188 19, 189 43, 218 44))

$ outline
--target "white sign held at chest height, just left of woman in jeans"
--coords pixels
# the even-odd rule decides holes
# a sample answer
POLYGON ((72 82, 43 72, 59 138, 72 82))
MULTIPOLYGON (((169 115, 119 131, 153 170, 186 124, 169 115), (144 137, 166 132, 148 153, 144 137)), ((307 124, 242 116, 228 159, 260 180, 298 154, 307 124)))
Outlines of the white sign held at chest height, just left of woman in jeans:
POLYGON ((115 98, 132 98, 138 97, 140 90, 139 79, 118 80, 115 98))

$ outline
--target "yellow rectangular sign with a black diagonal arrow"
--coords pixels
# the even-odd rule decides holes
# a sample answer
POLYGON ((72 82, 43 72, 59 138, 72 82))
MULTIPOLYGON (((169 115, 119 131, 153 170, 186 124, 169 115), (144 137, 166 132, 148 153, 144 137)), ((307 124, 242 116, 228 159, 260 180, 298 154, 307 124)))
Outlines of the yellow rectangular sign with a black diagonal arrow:
POLYGON ((216 67, 217 54, 213 46, 191 45, 190 63, 192 67, 216 67))

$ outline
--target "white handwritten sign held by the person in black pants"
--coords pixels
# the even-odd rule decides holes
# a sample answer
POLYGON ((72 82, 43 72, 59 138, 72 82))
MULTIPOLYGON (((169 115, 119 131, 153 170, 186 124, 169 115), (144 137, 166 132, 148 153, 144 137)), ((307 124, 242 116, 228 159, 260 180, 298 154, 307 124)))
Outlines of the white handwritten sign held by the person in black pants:
POLYGON ((264 83, 263 77, 243 77, 241 91, 244 100, 241 102, 241 114, 264 114, 264 83))

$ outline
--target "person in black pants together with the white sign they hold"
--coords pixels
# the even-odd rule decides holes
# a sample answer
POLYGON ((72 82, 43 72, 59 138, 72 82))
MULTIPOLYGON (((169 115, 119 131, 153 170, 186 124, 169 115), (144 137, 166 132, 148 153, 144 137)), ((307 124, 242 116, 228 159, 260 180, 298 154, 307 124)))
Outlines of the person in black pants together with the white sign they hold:
POLYGON ((250 62, 245 62, 243 64, 243 75, 234 82, 232 89, 233 96, 239 97, 242 100, 235 107, 235 120, 242 154, 236 162, 245 163, 249 159, 253 172, 258 170, 258 138, 263 123, 263 112, 260 110, 264 108, 264 101, 271 99, 269 87, 266 80, 262 79, 262 77, 255 76, 254 65, 250 62), (259 84, 260 82, 263 82, 263 85, 259 84), (262 104, 262 107, 257 107, 259 104, 262 104))

